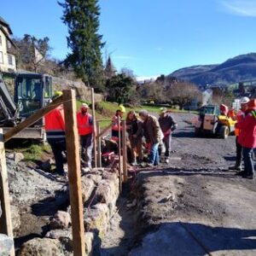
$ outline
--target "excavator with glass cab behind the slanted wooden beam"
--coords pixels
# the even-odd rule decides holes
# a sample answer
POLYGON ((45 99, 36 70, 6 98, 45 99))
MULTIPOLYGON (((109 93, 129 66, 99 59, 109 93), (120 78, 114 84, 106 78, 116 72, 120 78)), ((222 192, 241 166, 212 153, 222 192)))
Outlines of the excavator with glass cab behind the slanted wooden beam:
MULTIPOLYGON (((52 97, 52 80, 46 74, 15 73, 11 77, 15 79, 14 100, 0 73, 0 126, 4 132, 49 104, 52 97)), ((44 141, 43 119, 20 131, 15 137, 44 141)))

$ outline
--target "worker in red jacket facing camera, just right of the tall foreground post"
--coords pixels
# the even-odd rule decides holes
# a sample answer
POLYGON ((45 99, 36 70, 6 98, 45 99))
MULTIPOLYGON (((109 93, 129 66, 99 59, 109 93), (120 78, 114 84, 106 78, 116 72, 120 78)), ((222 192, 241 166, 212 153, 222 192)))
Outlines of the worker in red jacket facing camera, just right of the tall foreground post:
POLYGON ((81 145, 81 159, 84 168, 91 169, 92 148, 93 148, 93 118, 88 112, 89 106, 83 103, 77 113, 78 129, 81 145))

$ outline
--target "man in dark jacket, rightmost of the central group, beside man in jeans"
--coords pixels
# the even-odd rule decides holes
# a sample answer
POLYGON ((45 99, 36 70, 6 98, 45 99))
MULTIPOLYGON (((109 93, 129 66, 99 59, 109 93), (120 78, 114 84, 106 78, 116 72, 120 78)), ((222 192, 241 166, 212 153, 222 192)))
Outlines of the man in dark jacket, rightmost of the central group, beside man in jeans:
POLYGON ((171 153, 172 131, 177 129, 177 122, 172 118, 171 113, 166 108, 160 108, 160 118, 158 119, 161 130, 164 134, 162 143, 160 143, 159 154, 165 153, 165 162, 169 163, 171 153))

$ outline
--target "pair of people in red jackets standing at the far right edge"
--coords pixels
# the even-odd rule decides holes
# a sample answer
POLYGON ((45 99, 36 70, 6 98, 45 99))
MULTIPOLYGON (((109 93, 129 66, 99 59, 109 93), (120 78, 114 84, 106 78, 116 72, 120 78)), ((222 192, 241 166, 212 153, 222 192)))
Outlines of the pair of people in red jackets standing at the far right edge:
POLYGON ((248 97, 241 98, 241 110, 236 113, 236 165, 230 170, 237 170, 238 175, 253 179, 253 149, 256 148, 256 100, 248 97), (243 157, 244 170, 241 170, 243 157))

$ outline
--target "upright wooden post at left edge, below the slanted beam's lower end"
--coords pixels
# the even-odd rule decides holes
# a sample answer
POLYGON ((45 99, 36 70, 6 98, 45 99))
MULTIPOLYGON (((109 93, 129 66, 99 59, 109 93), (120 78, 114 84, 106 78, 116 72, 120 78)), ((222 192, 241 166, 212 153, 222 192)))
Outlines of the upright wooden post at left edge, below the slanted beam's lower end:
MULTIPOLYGON (((9 202, 9 183, 8 173, 5 160, 5 149, 3 143, 3 129, 0 129, 0 201, 2 208, 2 216, 0 218, 0 233, 13 239, 13 226, 9 202)), ((15 247, 10 252, 11 256, 15 256, 15 247)))

